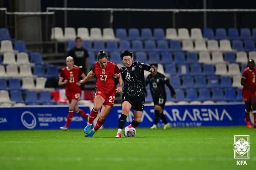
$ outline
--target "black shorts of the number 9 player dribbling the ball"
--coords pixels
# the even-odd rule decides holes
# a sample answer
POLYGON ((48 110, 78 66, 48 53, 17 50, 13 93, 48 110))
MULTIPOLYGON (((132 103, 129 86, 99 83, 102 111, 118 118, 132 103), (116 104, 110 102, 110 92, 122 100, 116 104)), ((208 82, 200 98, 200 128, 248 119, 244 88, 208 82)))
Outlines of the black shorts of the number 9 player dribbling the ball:
POLYGON ((124 101, 129 102, 132 105, 133 110, 142 112, 145 104, 145 95, 140 95, 140 96, 124 95, 122 99, 122 104, 124 101))

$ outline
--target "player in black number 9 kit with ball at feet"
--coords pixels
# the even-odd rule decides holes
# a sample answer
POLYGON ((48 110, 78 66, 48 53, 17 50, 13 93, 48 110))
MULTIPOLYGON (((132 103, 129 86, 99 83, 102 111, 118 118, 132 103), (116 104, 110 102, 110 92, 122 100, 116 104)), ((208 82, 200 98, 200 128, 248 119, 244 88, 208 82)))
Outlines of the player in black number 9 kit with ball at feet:
POLYGON ((125 50, 121 53, 121 58, 124 63, 124 67, 120 68, 124 87, 122 96, 122 114, 118 121, 118 130, 116 137, 121 137, 121 132, 124 127, 126 118, 133 109, 134 119, 132 126, 136 128, 140 119, 142 118, 142 111, 145 104, 145 78, 144 70, 148 72, 155 72, 155 68, 150 67, 144 63, 133 61, 132 52, 125 50))

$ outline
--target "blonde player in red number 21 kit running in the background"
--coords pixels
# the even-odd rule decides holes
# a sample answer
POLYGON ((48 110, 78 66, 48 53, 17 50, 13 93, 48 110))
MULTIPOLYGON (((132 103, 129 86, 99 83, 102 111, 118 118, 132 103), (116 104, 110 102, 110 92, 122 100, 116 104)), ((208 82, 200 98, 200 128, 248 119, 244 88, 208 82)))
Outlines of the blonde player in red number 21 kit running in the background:
POLYGON ((85 114, 82 109, 79 109, 77 104, 81 95, 79 77, 85 78, 85 74, 79 68, 74 67, 74 59, 71 56, 66 58, 66 65, 67 67, 63 68, 60 72, 58 84, 65 84, 66 97, 69 101, 69 114, 65 126, 60 127, 61 130, 68 130, 68 126, 73 118, 74 112, 86 119, 89 117, 89 114, 85 114))

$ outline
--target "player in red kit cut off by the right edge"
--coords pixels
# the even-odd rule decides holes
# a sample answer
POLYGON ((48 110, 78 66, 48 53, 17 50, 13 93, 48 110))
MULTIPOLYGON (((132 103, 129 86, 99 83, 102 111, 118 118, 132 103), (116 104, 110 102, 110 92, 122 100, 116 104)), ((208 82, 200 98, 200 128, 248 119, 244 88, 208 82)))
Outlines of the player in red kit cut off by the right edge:
POLYGON ((250 111, 254 114, 254 128, 256 128, 256 69, 254 68, 255 62, 249 59, 247 62, 247 68, 244 69, 241 78, 242 96, 245 101, 245 123, 247 128, 251 128, 250 123, 250 111))

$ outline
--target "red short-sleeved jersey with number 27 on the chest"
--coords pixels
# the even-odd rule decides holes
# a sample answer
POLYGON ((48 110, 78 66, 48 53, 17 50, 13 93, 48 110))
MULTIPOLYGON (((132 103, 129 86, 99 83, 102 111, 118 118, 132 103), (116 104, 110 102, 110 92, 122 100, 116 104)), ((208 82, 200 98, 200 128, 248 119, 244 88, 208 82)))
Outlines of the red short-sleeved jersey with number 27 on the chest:
POLYGON ((96 62, 92 67, 92 72, 96 75, 96 91, 107 94, 116 90, 113 75, 115 73, 120 74, 120 70, 116 64, 108 61, 107 66, 103 68, 99 62, 96 62))

